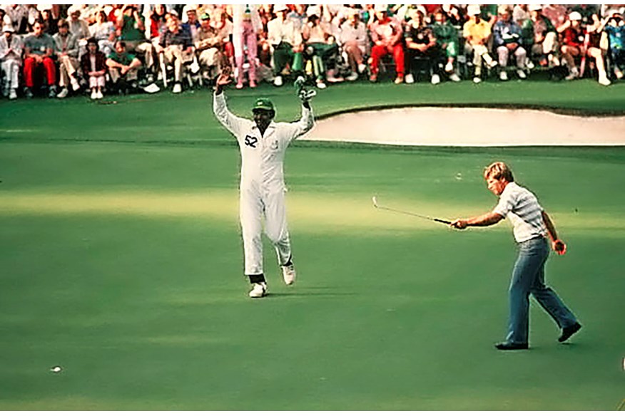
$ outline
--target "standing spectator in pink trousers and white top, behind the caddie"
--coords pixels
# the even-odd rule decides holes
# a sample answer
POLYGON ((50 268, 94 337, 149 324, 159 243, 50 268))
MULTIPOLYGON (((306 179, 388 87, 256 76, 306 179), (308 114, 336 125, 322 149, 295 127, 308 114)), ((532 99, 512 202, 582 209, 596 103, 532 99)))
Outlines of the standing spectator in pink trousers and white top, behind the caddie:
POLYGON ((233 4, 232 41, 236 63, 236 88, 243 88, 245 71, 243 63, 248 61, 248 85, 256 87, 256 53, 258 51, 258 33, 263 31, 258 6, 255 4, 233 4))

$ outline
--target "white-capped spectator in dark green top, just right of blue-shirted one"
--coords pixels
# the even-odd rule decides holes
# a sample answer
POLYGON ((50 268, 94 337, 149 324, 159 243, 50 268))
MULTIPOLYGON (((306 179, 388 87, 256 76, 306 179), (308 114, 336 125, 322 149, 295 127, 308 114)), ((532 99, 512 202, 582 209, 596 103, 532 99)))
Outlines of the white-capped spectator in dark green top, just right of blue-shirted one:
POLYGON ((541 4, 529 4, 529 19, 522 26, 524 45, 541 66, 559 66, 558 34, 552 21, 542 14, 541 4))

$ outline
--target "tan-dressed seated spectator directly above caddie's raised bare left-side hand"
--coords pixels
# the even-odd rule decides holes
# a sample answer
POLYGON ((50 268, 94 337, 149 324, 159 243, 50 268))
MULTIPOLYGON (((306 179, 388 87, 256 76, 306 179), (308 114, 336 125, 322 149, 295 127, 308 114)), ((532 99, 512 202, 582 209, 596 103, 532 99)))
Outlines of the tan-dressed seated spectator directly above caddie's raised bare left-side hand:
POLYGON ((225 53, 223 51, 223 39, 218 30, 210 26, 210 16, 201 16, 202 26, 198 31, 198 38, 195 41, 195 52, 198 53, 200 69, 204 78, 215 79, 222 71, 223 66, 228 66, 228 61, 224 63, 225 53))

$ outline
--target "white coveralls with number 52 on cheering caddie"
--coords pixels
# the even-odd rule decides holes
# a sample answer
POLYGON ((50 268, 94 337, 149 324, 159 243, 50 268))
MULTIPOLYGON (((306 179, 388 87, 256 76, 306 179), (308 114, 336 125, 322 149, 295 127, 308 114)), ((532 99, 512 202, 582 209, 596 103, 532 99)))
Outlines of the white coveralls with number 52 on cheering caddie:
POLYGON ((241 152, 240 222, 245 253, 245 274, 263 274, 265 234, 278 254, 278 263, 286 264, 291 245, 286 219, 283 162, 291 140, 313 128, 313 111, 302 107, 302 117, 295 123, 271 122, 261 135, 253 120, 230 113, 224 94, 214 95, 213 112, 221 124, 237 138, 241 152))

